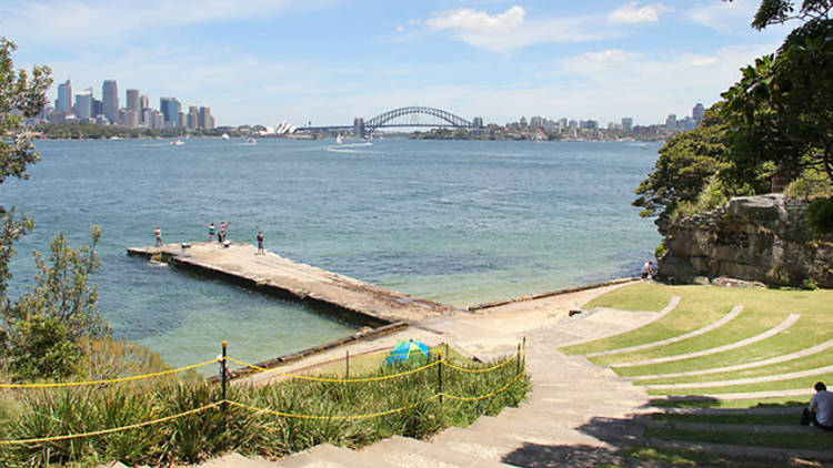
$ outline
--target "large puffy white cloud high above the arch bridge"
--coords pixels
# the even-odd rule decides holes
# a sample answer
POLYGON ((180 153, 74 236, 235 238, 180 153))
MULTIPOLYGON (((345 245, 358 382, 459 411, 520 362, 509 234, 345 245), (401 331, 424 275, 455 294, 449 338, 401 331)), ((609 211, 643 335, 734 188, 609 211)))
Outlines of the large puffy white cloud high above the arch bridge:
POLYGON ((472 47, 494 52, 540 43, 578 43, 615 38, 619 31, 603 27, 603 17, 526 18, 523 8, 514 6, 503 13, 459 9, 435 12, 425 20, 430 31, 450 31, 453 38, 472 47))

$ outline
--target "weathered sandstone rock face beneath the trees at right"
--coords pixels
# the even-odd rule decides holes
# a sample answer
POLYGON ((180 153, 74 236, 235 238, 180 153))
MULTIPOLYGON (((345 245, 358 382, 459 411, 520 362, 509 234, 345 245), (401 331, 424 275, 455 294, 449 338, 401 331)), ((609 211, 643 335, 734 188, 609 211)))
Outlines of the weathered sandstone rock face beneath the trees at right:
POLYGON ((723 276, 782 286, 813 278, 833 287, 833 235, 811 235, 809 204, 782 194, 742 196, 661 226, 666 253, 660 275, 679 283, 723 276))

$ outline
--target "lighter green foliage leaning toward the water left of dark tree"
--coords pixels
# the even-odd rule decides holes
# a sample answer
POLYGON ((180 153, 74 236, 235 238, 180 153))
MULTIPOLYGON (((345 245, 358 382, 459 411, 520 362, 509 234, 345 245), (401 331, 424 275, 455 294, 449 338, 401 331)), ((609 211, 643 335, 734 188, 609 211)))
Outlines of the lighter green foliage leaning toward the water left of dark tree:
POLYGON ((633 201, 642 216, 669 217, 682 203, 694 203, 703 187, 721 171, 726 147, 725 124, 710 109, 700 126, 673 136, 660 149, 653 172, 642 181, 633 201))

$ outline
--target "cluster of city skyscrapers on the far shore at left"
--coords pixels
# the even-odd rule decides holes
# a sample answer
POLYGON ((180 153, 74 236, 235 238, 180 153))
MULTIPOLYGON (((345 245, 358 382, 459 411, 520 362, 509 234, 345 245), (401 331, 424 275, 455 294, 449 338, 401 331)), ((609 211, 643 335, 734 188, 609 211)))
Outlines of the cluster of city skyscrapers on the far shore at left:
POLYGON ((48 106, 36 119, 39 123, 89 123, 117 125, 126 129, 150 130, 213 130, 214 116, 211 108, 190 105, 188 113, 177 98, 160 98, 159 109, 150 106, 147 94, 137 89, 124 92, 124 106, 119 105, 119 85, 116 80, 104 80, 101 85, 101 100, 96 99, 92 88, 72 95, 72 83, 67 80, 58 84, 54 106, 48 106))

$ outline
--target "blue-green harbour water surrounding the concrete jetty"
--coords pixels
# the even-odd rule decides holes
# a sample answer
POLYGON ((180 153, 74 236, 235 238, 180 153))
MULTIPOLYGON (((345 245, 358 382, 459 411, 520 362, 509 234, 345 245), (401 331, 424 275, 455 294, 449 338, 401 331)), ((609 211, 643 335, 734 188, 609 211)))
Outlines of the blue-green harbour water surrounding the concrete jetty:
POLYGON ((103 227, 94 282, 114 336, 172 365, 210 359, 221 340, 262 360, 321 344, 347 325, 302 307, 126 255, 126 247, 229 240, 413 296, 468 306, 636 274, 660 237, 630 205, 658 143, 194 139, 43 141, 30 181, 2 205, 37 220, 17 244, 12 294, 32 248, 103 227), (345 142, 350 143, 350 142, 345 142))

